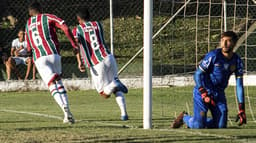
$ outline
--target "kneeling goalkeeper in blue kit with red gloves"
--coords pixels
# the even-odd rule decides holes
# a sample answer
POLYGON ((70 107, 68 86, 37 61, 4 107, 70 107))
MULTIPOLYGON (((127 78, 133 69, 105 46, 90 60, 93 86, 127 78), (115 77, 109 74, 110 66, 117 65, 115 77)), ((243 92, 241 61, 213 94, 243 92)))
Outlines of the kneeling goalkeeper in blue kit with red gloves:
POLYGON ((238 125, 246 124, 245 99, 243 88, 243 63, 233 52, 238 37, 233 31, 221 34, 220 46, 209 52, 199 64, 194 74, 195 87, 193 91, 194 116, 182 112, 172 124, 179 128, 185 124, 189 128, 226 128, 227 101, 224 90, 232 73, 236 77, 236 95, 239 103, 237 115, 238 125), (212 118, 207 118, 210 110, 212 118))

